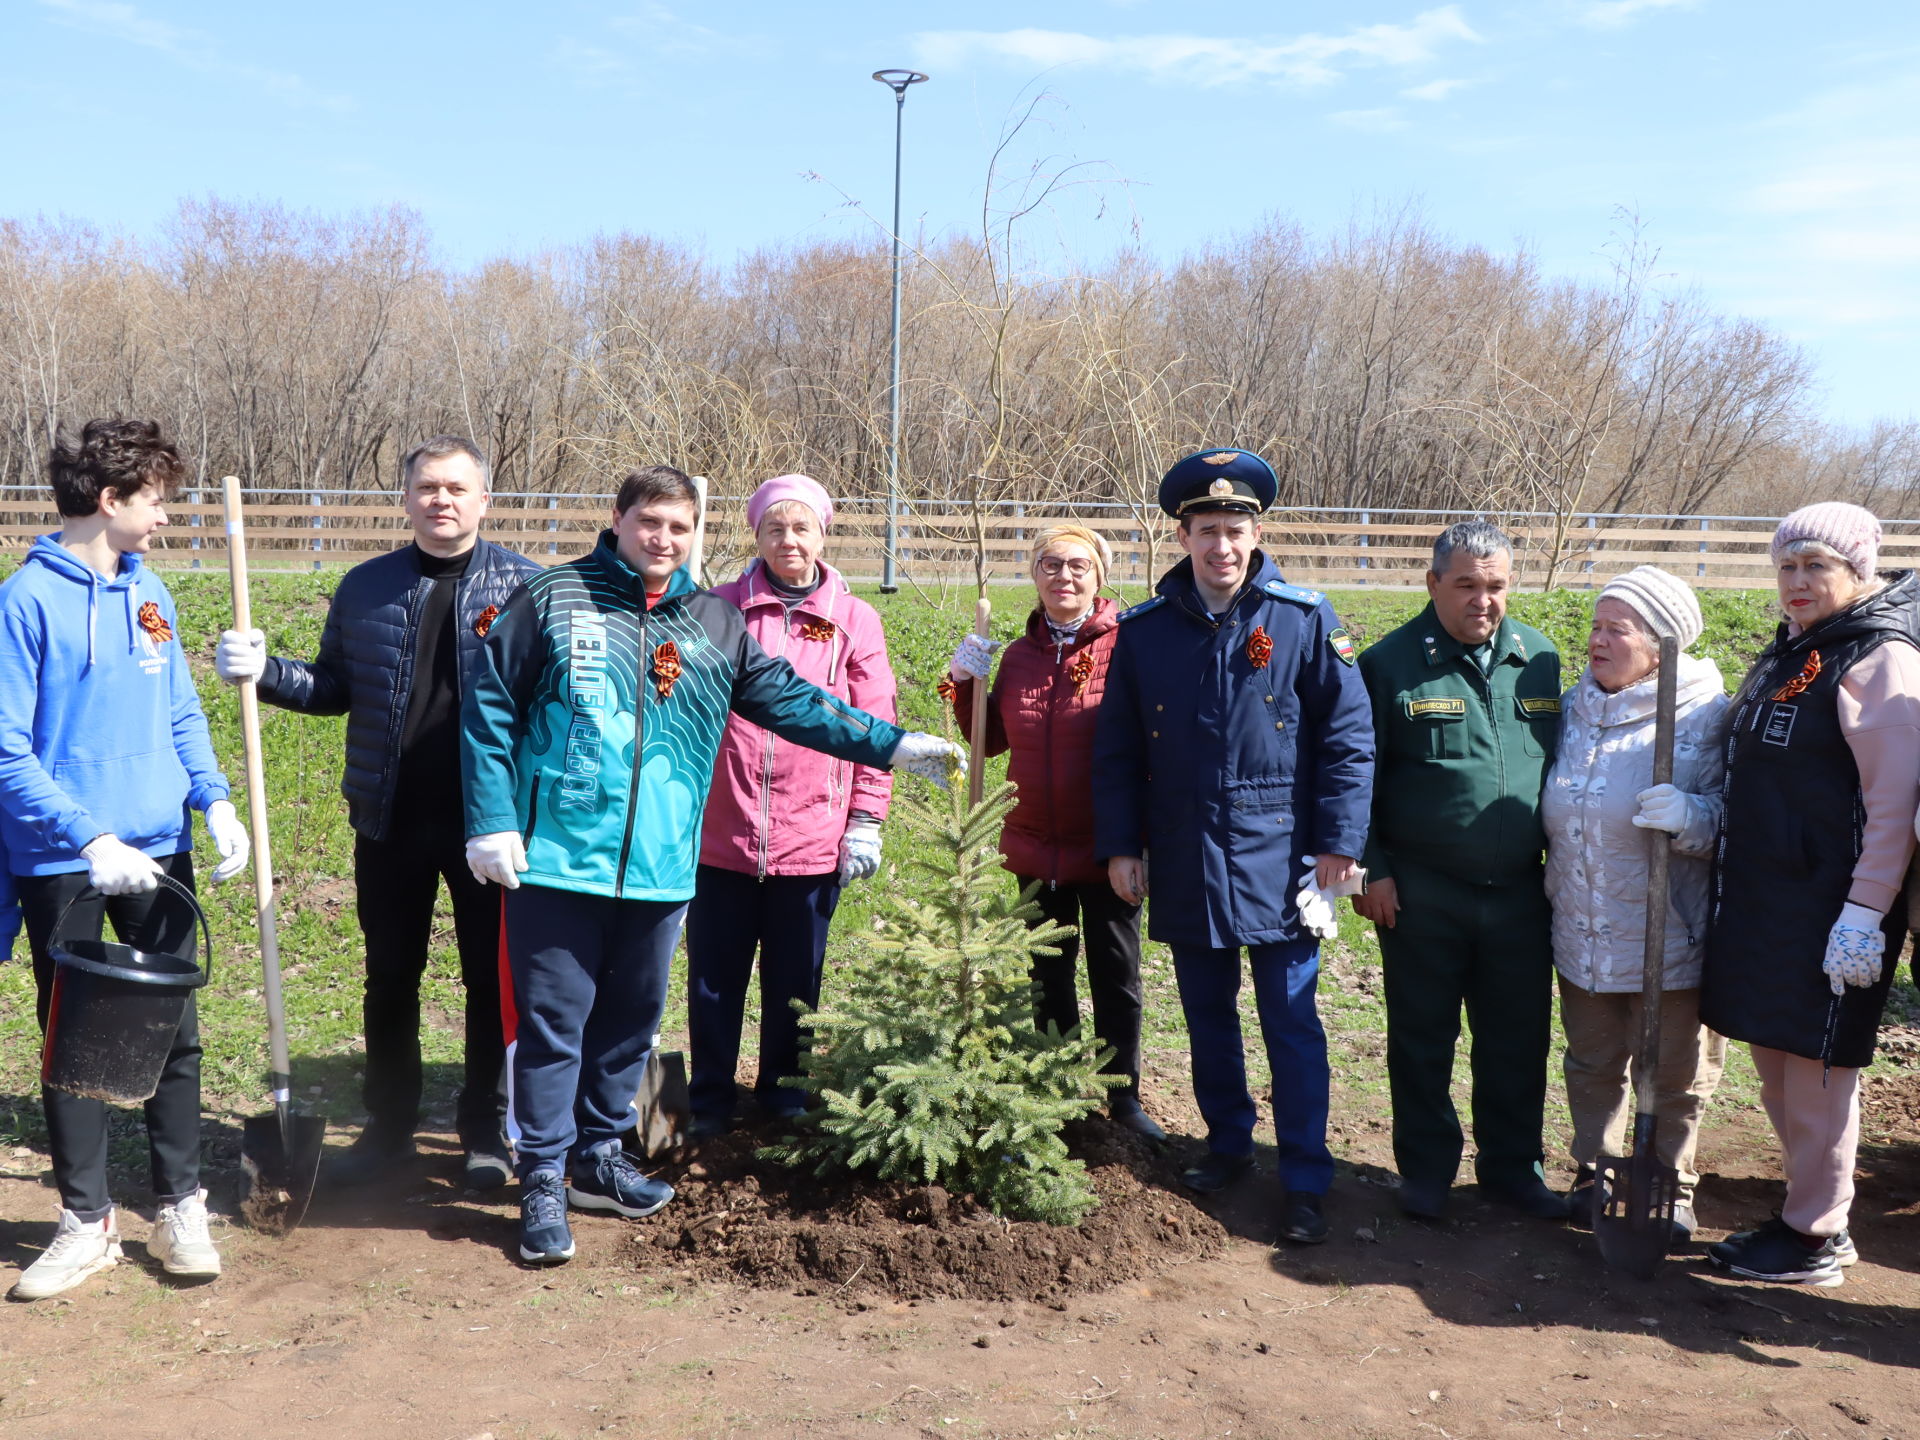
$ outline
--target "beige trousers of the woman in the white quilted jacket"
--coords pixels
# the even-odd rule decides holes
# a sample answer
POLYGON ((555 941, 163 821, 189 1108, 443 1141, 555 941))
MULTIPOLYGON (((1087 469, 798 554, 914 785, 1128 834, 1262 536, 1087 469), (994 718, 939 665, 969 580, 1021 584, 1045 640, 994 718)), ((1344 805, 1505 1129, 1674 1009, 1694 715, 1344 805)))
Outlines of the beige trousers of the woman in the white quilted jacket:
MULTIPOLYGON (((1565 975, 1561 1023, 1567 1029, 1567 1108, 1572 1112, 1572 1158, 1592 1165, 1601 1154, 1626 1154, 1632 1114, 1632 1058, 1640 1039, 1640 995, 1582 991, 1565 975)), ((1693 1146, 1720 1071, 1726 1039, 1699 1023, 1699 991, 1661 995, 1661 1056, 1653 1069, 1659 1116, 1659 1162, 1680 1175, 1680 1200, 1692 1204, 1699 1175, 1693 1146)))

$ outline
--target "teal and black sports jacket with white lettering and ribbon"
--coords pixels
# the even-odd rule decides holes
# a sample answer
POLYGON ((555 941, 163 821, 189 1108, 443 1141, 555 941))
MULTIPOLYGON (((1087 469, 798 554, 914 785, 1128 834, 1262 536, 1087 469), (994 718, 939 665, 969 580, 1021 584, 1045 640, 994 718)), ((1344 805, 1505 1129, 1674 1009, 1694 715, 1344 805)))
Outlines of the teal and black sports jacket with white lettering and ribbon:
POLYGON ((530 885, 691 899, 730 710, 881 770, 906 733, 801 680, 685 570, 649 611, 603 532, 488 630, 461 710, 467 835, 520 831, 530 885))

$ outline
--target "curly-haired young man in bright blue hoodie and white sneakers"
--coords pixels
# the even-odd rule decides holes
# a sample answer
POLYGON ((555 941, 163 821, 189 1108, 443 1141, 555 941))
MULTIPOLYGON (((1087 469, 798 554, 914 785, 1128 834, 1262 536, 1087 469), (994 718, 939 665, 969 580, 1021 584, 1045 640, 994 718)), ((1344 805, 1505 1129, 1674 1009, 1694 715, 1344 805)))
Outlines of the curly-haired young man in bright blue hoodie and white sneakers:
MULTIPOLYGON (((167 524, 184 474, 152 420, 88 420, 48 463, 61 528, 33 541, 0 586, 0 852, 33 950, 40 1027, 54 993, 50 947, 98 939, 192 954, 194 918, 161 876, 194 887, 192 810, 221 854, 213 879, 248 862, 248 835, 213 762, 173 597, 140 557, 167 524)), ((15 1300, 69 1290, 121 1258, 108 1194, 108 1108, 42 1089, 60 1227, 13 1286, 15 1300)), ((200 1188, 200 1025, 188 996, 159 1089, 146 1102, 159 1213, 148 1254, 171 1275, 211 1279, 221 1258, 200 1188)))

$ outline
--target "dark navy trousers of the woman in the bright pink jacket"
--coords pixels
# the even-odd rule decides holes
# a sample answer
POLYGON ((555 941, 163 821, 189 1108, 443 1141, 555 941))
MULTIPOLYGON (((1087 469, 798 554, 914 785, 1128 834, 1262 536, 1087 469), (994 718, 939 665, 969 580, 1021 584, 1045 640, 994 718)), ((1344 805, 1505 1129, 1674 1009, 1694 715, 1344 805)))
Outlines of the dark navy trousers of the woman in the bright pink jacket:
POLYGON ((687 1094, 695 1116, 733 1114, 733 1069, 747 1016, 747 981, 760 954, 760 1073, 753 1092, 772 1114, 799 1114, 806 1092, 780 1081, 801 1073, 801 1018, 791 1000, 820 1004, 828 925, 839 872, 756 876, 701 866, 687 908, 687 1094))

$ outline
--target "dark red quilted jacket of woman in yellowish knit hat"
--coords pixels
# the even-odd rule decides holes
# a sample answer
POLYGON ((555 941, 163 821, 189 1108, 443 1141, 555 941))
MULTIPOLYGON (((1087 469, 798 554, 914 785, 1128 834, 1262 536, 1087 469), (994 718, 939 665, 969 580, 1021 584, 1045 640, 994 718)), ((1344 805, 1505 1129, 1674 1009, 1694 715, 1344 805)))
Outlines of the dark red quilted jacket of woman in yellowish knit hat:
MULTIPOLYGON (((1106 881, 1092 854, 1092 732, 1117 634, 1114 601, 1094 601, 1071 645, 1054 645, 1046 614, 1027 616, 1027 634, 1000 657, 987 693, 987 755, 1012 753, 1008 780, 1020 789, 1000 831, 1000 856, 1018 876, 1062 885, 1106 881)), ((973 682, 956 687, 962 733, 973 722, 973 682)), ((975 741, 968 735, 970 743, 975 741)))

